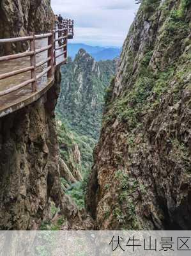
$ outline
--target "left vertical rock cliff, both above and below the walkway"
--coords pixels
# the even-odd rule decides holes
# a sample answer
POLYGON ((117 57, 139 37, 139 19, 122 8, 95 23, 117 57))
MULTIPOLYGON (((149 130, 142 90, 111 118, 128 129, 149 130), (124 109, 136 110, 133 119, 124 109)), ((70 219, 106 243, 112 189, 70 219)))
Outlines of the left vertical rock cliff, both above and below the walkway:
MULTIPOLYGON (((1 1, 1 38, 24 36, 29 31, 45 32, 52 29, 53 23, 48 0, 1 1)), ((26 47, 3 45, 1 54, 26 47)), ((42 220, 51 216, 52 202, 66 213, 68 202, 61 188, 54 115, 60 83, 58 68, 55 83, 45 97, 0 118, 1 230, 37 229, 42 220)))

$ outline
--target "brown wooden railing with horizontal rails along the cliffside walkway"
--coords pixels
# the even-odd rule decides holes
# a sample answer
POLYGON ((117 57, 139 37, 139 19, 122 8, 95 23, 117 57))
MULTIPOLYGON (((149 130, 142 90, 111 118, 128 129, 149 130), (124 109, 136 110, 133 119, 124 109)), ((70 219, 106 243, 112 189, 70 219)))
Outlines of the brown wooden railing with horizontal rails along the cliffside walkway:
POLYGON ((29 57, 31 62, 30 67, 23 67, 18 70, 10 71, 0 75, 0 81, 1 81, 2 79, 6 79, 8 77, 16 76, 18 74, 22 74, 29 71, 31 72, 31 78, 28 79, 27 81, 24 81, 20 84, 17 84, 3 91, 1 91, 1 88, 0 88, 0 96, 6 95, 11 92, 15 92, 20 88, 27 86, 28 84, 31 84, 32 92, 36 92, 37 91, 36 82, 38 79, 40 79, 45 74, 47 74, 48 78, 54 77, 54 68, 57 65, 66 63, 66 60, 67 60, 68 35, 73 35, 73 27, 71 27, 71 24, 73 24, 73 21, 71 20, 70 22, 63 21, 63 24, 59 24, 58 28, 54 29, 53 31, 50 31, 50 33, 45 33, 42 35, 34 35, 34 33, 29 33, 29 36, 0 39, 0 44, 29 42, 28 51, 0 57, 0 65, 3 61, 17 60, 17 59, 26 58, 26 57, 29 57), (36 49, 36 40, 42 40, 45 38, 47 38, 47 46, 42 47, 40 49, 36 49), (58 50, 61 50, 59 54, 57 54, 58 50), (40 52, 44 52, 44 51, 48 52, 47 58, 45 60, 42 60, 36 63, 36 54, 39 54, 40 52), (61 59, 61 56, 63 56, 62 59, 61 59), (58 58, 59 58, 59 61, 57 61, 58 58), (36 68, 39 68, 46 63, 47 63, 47 68, 45 68, 40 74, 37 74, 36 68))

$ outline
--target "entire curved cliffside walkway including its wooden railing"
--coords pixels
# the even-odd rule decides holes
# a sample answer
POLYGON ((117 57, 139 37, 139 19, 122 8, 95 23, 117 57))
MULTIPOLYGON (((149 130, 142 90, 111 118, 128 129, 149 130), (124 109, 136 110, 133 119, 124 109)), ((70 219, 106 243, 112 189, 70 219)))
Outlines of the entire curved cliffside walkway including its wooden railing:
POLYGON ((54 70, 66 64, 73 20, 63 20, 43 35, 0 39, 0 44, 29 42, 26 52, 0 57, 0 117, 40 99, 54 84, 54 70))

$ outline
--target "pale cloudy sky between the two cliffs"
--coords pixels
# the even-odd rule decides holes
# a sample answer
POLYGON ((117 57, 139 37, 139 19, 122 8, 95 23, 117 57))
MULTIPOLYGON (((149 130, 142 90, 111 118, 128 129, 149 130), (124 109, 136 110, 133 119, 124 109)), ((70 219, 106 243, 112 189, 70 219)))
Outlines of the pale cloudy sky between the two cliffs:
POLYGON ((75 22, 72 43, 121 47, 139 7, 135 0, 51 0, 54 13, 75 22))

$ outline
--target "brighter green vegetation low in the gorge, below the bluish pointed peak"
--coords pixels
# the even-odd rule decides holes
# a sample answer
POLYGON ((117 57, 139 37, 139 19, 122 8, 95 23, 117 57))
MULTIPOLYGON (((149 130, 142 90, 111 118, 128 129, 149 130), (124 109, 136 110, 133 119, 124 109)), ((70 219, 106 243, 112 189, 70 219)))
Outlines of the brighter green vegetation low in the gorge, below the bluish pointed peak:
POLYGON ((89 170, 91 170, 91 164, 93 162, 93 147, 95 147, 95 140, 86 136, 79 136, 72 128, 68 128, 65 123, 57 121, 58 141, 60 147, 61 158, 68 165, 68 168, 77 168, 79 166, 72 161, 72 148, 75 144, 79 146, 79 150, 82 156, 82 181, 78 181, 74 184, 61 178, 61 185, 65 190, 66 195, 70 195, 79 209, 84 208, 84 196, 86 193, 86 186, 88 182, 89 170), (60 124, 61 123, 61 124, 60 124))

